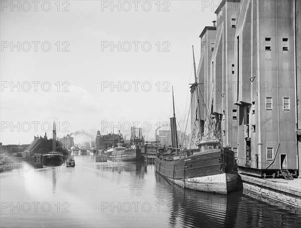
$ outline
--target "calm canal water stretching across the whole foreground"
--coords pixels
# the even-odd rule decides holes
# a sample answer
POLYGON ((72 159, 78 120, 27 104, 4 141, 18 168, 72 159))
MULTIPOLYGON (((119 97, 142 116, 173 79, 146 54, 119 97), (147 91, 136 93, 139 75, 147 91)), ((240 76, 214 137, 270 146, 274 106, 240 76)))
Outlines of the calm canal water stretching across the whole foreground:
POLYGON ((300 227, 299 210, 247 192, 172 186, 154 165, 74 156, 76 167, 0 174, 1 227, 300 227), (272 204, 271 204, 272 203, 272 204))

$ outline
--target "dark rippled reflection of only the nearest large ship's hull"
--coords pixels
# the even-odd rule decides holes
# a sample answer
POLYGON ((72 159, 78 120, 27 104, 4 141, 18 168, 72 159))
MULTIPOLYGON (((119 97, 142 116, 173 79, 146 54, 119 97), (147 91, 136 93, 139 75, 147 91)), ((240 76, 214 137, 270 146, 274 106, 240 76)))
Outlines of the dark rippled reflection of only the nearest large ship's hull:
POLYGON ((239 201, 237 195, 220 195, 207 192, 198 192, 172 186, 162 176, 156 174, 155 195, 164 206, 170 209, 170 225, 194 226, 222 226, 232 227, 237 214, 237 207, 233 207, 239 201), (236 201, 236 204, 234 202, 236 201))

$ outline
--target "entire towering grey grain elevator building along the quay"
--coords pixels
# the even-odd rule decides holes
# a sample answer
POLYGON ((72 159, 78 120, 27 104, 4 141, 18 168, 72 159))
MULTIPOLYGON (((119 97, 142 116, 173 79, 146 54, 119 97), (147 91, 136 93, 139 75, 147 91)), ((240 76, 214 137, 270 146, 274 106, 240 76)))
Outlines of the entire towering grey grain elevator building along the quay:
POLYGON ((300 2, 223 0, 200 35, 204 109, 191 135, 214 129, 246 173, 300 175, 300 2))

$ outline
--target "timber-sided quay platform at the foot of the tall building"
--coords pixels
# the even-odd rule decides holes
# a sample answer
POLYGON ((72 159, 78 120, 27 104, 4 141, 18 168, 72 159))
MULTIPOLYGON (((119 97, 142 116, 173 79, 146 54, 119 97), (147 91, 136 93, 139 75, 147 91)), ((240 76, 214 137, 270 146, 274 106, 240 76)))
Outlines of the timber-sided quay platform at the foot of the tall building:
POLYGON ((301 208, 301 179, 261 179, 244 174, 239 174, 239 176, 243 189, 289 206, 301 208))

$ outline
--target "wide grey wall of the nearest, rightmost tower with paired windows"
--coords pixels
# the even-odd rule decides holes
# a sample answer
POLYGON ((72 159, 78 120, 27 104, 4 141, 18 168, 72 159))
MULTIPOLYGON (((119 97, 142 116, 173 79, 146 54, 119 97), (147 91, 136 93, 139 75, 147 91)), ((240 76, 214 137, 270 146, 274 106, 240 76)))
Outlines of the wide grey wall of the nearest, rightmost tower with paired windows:
POLYGON ((296 169, 294 3, 245 0, 242 4, 247 2, 251 8, 241 12, 235 35, 241 42, 236 53, 239 66, 236 77, 240 82, 237 104, 241 106, 239 165, 251 160, 252 168, 279 169, 282 154, 286 155, 286 168, 296 169), (270 51, 265 50, 265 38, 271 38, 270 51), (282 50, 282 38, 288 38, 288 51, 282 50), (247 43, 251 43, 251 50, 246 48, 247 43), (272 97, 272 110, 266 109, 266 97, 272 97), (283 109, 283 97, 290 99, 289 110, 283 109), (246 135, 251 143, 250 157, 247 157, 246 135), (267 160, 267 148, 273 148, 272 160, 267 160))

